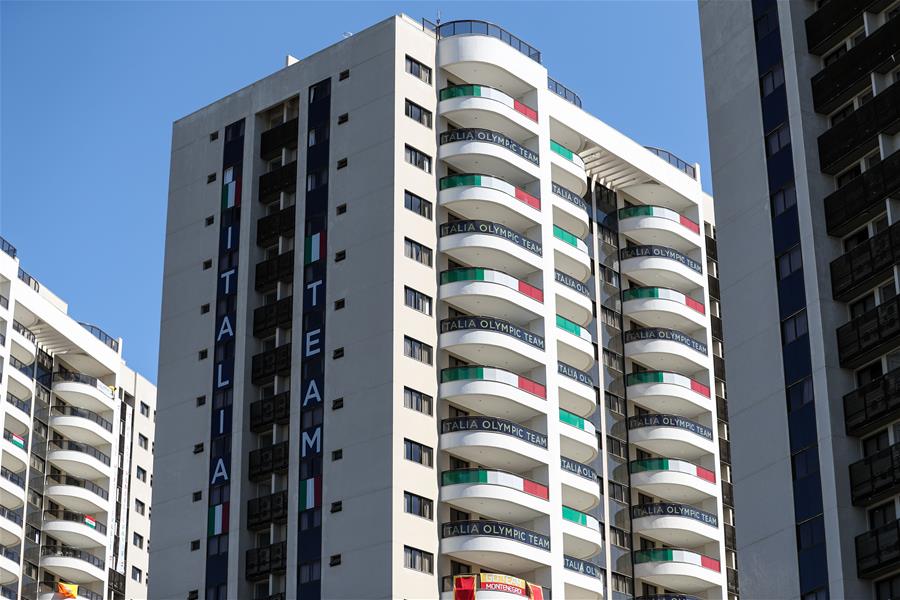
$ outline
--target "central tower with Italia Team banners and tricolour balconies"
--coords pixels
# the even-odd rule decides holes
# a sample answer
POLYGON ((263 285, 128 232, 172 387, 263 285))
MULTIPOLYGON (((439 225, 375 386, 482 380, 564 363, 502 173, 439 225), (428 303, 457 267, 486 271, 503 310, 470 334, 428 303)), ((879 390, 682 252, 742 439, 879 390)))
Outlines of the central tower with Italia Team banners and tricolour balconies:
POLYGON ((400 15, 177 121, 170 177, 151 596, 736 597, 696 165, 400 15))

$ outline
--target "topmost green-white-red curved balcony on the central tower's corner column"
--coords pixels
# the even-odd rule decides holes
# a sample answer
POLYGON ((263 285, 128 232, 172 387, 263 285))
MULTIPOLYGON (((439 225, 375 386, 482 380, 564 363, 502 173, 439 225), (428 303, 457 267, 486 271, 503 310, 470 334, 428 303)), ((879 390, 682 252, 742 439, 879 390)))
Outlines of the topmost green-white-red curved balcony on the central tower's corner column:
POLYGON ((461 127, 486 127, 517 139, 540 133, 537 111, 487 85, 452 85, 438 93, 438 112, 461 127))

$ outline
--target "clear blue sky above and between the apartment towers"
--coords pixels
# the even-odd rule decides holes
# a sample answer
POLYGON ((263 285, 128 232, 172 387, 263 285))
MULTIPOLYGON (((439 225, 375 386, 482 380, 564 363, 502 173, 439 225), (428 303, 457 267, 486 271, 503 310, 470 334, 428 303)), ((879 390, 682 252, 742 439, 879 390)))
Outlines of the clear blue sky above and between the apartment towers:
POLYGON ((387 16, 484 19, 584 109, 699 162, 697 3, 0 2, 0 234, 70 313, 156 380, 171 124, 387 16))

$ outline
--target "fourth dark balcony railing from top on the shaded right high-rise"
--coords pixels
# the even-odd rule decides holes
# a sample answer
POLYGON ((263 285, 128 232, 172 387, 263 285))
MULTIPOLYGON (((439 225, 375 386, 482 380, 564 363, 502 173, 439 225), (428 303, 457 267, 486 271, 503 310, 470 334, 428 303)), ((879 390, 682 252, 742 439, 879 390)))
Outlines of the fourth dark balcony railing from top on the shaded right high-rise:
POLYGON ((900 192, 900 150, 825 197, 828 235, 844 236, 883 212, 885 198, 900 192))

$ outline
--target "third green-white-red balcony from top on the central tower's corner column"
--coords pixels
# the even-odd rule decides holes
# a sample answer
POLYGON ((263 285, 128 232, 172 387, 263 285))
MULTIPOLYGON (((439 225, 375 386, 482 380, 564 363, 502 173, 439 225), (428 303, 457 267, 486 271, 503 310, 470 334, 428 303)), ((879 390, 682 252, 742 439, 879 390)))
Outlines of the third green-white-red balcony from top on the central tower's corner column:
POLYGON ((543 290, 493 269, 443 271, 440 291, 442 300, 470 314, 488 314, 518 323, 543 315, 543 290))

